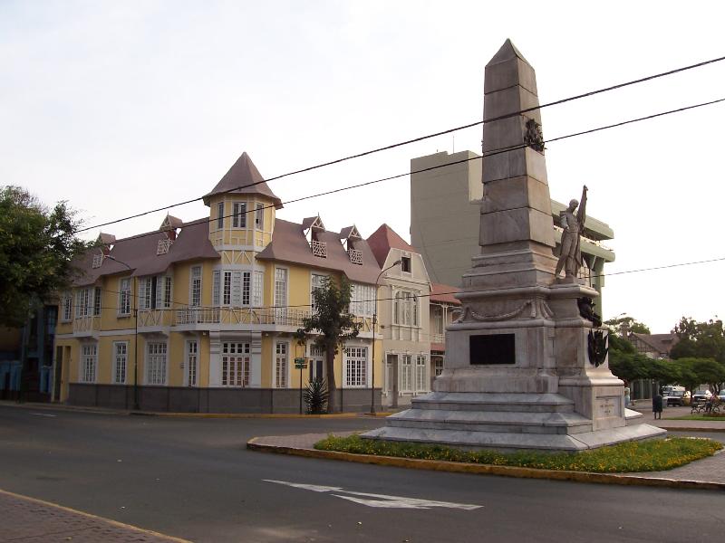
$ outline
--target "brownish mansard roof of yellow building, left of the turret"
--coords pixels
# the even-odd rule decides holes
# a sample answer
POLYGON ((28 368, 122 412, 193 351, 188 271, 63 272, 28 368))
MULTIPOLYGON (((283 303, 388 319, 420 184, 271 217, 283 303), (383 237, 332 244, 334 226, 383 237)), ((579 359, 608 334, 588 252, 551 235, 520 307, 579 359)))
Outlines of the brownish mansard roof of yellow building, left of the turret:
POLYGON ((176 241, 169 246, 169 252, 164 254, 157 253, 159 242, 169 239, 163 231, 117 240, 109 252, 111 258, 104 258, 99 268, 92 267, 95 251, 90 249, 73 262, 77 268, 73 286, 92 285, 104 275, 122 273, 129 271, 129 268, 133 276, 140 277, 163 273, 175 262, 219 258, 219 253, 208 239, 207 217, 181 224, 180 228, 176 241))

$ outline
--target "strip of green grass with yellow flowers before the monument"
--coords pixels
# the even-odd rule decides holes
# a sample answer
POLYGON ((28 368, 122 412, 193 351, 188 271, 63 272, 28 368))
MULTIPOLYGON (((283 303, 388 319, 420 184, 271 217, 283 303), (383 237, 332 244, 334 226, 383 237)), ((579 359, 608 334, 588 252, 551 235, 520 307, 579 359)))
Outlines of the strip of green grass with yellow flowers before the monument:
POLYGON ((663 440, 630 442, 578 453, 462 451, 441 445, 399 443, 349 437, 327 436, 314 443, 321 451, 353 452, 399 456, 423 460, 471 462, 571 472, 626 473, 672 470, 694 460, 711 456, 722 444, 709 439, 672 437, 663 440))

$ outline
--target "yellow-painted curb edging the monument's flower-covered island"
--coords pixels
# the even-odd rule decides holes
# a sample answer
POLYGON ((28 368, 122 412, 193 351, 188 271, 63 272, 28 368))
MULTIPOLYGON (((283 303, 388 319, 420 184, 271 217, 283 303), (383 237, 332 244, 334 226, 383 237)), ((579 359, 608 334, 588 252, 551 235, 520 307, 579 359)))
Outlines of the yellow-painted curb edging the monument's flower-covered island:
POLYGON ((664 479, 612 473, 565 472, 539 470, 535 468, 494 466, 491 464, 420 460, 417 458, 399 458, 395 456, 374 456, 372 454, 356 454, 352 452, 318 451, 317 449, 297 449, 295 447, 256 443, 258 439, 261 438, 253 437, 250 439, 247 442, 247 449, 259 452, 290 454, 294 456, 302 456, 304 458, 324 458, 328 460, 342 460, 344 462, 393 466, 413 470, 429 470, 433 472, 475 473, 479 475, 500 475, 503 477, 517 477, 522 479, 546 479, 550 481, 593 482, 599 484, 619 484, 623 486, 650 486, 672 489, 725 491, 725 483, 721 482, 664 479))

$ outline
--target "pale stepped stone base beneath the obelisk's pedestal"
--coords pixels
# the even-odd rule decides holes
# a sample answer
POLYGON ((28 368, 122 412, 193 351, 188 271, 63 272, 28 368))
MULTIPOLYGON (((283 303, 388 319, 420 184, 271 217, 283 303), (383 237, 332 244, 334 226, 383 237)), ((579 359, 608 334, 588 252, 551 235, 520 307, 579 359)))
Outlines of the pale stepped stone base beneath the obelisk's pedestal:
POLYGON ((641 417, 627 409, 622 425, 601 428, 560 394, 433 392, 414 398, 411 409, 389 416, 386 426, 362 437, 502 452, 581 452, 666 435, 639 424, 641 417))

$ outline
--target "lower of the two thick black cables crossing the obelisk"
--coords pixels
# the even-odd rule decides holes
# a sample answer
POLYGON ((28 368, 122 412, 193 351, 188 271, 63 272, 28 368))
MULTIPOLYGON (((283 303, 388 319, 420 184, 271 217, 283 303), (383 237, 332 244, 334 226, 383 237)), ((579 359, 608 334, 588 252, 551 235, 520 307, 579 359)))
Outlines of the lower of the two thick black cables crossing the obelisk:
MULTIPOLYGON (((655 114, 648 115, 646 117, 640 117, 640 118, 637 118, 637 119, 624 120, 622 122, 614 123, 614 124, 611 124, 611 125, 606 125, 606 126, 603 126, 603 127, 597 127, 595 129, 589 129, 589 130, 584 130, 584 131, 581 131, 581 132, 575 132, 573 134, 567 134, 565 136, 559 136, 557 138, 547 139, 544 143, 546 144, 546 143, 551 143, 551 142, 554 142, 554 141, 558 141, 560 139, 574 138, 576 136, 584 136, 585 134, 591 134, 593 132, 598 132, 600 130, 614 129, 614 128, 617 128, 617 127, 621 127, 623 125, 632 124, 634 122, 639 122, 641 120, 654 119, 654 118, 657 118, 657 117, 662 117, 664 115, 671 115, 672 113, 679 113, 679 112, 685 111, 685 110, 693 110, 693 109, 696 109, 696 108, 701 108, 701 107, 704 107, 704 106, 709 106, 709 105, 712 105, 712 104, 716 104, 716 103, 719 103, 719 102, 722 102, 722 101, 725 101, 725 98, 721 98, 719 100, 710 100, 710 101, 707 101, 707 102, 701 102, 699 104, 694 104, 694 105, 691 105, 691 106, 685 106, 685 107, 682 107, 682 108, 678 108, 676 110, 662 111, 660 113, 655 113, 655 114)), ((304 200, 310 200, 312 198, 318 198, 320 196, 333 195, 333 194, 336 194, 336 193, 344 192, 346 190, 351 190, 353 188, 362 188, 363 186, 371 186, 371 185, 375 185, 375 184, 378 184, 378 183, 382 183, 383 181, 391 181, 393 179, 399 179, 401 177, 410 176, 412 174, 420 174, 420 173, 424 173, 424 172, 429 172, 429 171, 432 171, 432 170, 440 169, 440 168, 443 168, 443 167, 456 166, 458 164, 463 164, 463 163, 466 163, 466 162, 470 162, 472 160, 481 160, 482 158, 493 157, 493 156, 496 156, 496 155, 499 155, 499 154, 502 154, 502 153, 507 153, 509 151, 515 151, 517 149, 522 149, 522 148, 527 148, 527 147, 528 147, 527 145, 518 145, 518 146, 514 146, 514 147, 510 147, 510 148, 503 148, 503 149, 497 149, 495 151, 488 151, 488 152, 485 152, 485 153, 483 153, 483 155, 478 156, 478 157, 462 158, 460 160, 455 160, 453 162, 448 162, 446 164, 441 164, 441 165, 438 165, 438 166, 424 167, 424 168, 421 168, 421 169, 418 169, 418 170, 408 171, 408 172, 405 172, 405 173, 402 173, 402 174, 397 174, 395 176, 387 176, 387 177, 382 177, 382 178, 379 178, 379 179, 373 179, 372 181, 365 181, 363 183, 358 183, 356 185, 351 185, 351 186, 342 186, 340 188, 334 188, 334 189, 331 189, 331 190, 328 190, 328 191, 324 191, 324 192, 321 192, 321 193, 316 193, 314 195, 306 195, 306 196, 301 196, 299 198, 294 198, 292 200, 287 200, 287 201, 283 202, 283 204, 285 204, 285 205, 296 204, 297 202, 302 202, 304 200)), ((263 205, 262 207, 260 207, 258 209, 264 210, 264 209, 269 209, 269 208, 272 208, 272 207, 275 207, 275 205, 274 204, 263 205)), ((162 209, 165 209, 165 208, 162 208, 162 209)), ((160 211, 160 210, 155 210, 155 211, 160 211)), ((245 211, 245 214, 253 214, 256 211, 257 211, 257 208, 256 209, 251 209, 250 208, 250 209, 248 209, 248 210, 245 211)), ((149 212, 149 213, 152 213, 152 212, 149 212)), ((235 217, 235 216, 238 216, 238 215, 239 214, 232 213, 232 214, 222 215, 221 217, 215 217, 215 218, 208 217, 208 218, 198 219, 196 221, 191 221, 190 223, 186 223, 186 224, 184 224, 184 226, 196 226, 198 224, 209 224, 209 223, 212 223, 213 221, 218 220, 219 218, 228 219, 228 218, 232 218, 232 217, 235 217)), ((127 218, 135 218, 135 216, 138 216, 138 215, 134 215, 134 216, 127 217, 127 218)), ((126 219, 119 219, 118 221, 115 221, 115 222, 121 222, 122 220, 126 220, 126 219)), ((111 224, 111 223, 106 223, 106 224, 111 224)), ((103 224, 101 224, 101 225, 103 225, 103 224)), ((88 230, 88 229, 86 228, 86 229, 83 229, 83 230, 88 230)), ((77 232, 82 232, 82 230, 79 230, 77 232)), ((150 235, 157 235, 159 233, 160 233, 159 230, 154 230, 152 232, 147 232, 147 233, 139 233, 139 234, 135 234, 135 235, 129 236, 127 238, 123 238, 122 240, 119 240, 119 242, 125 242, 125 241, 134 240, 134 239, 139 239, 139 238, 147 237, 147 236, 150 236, 150 235)))

